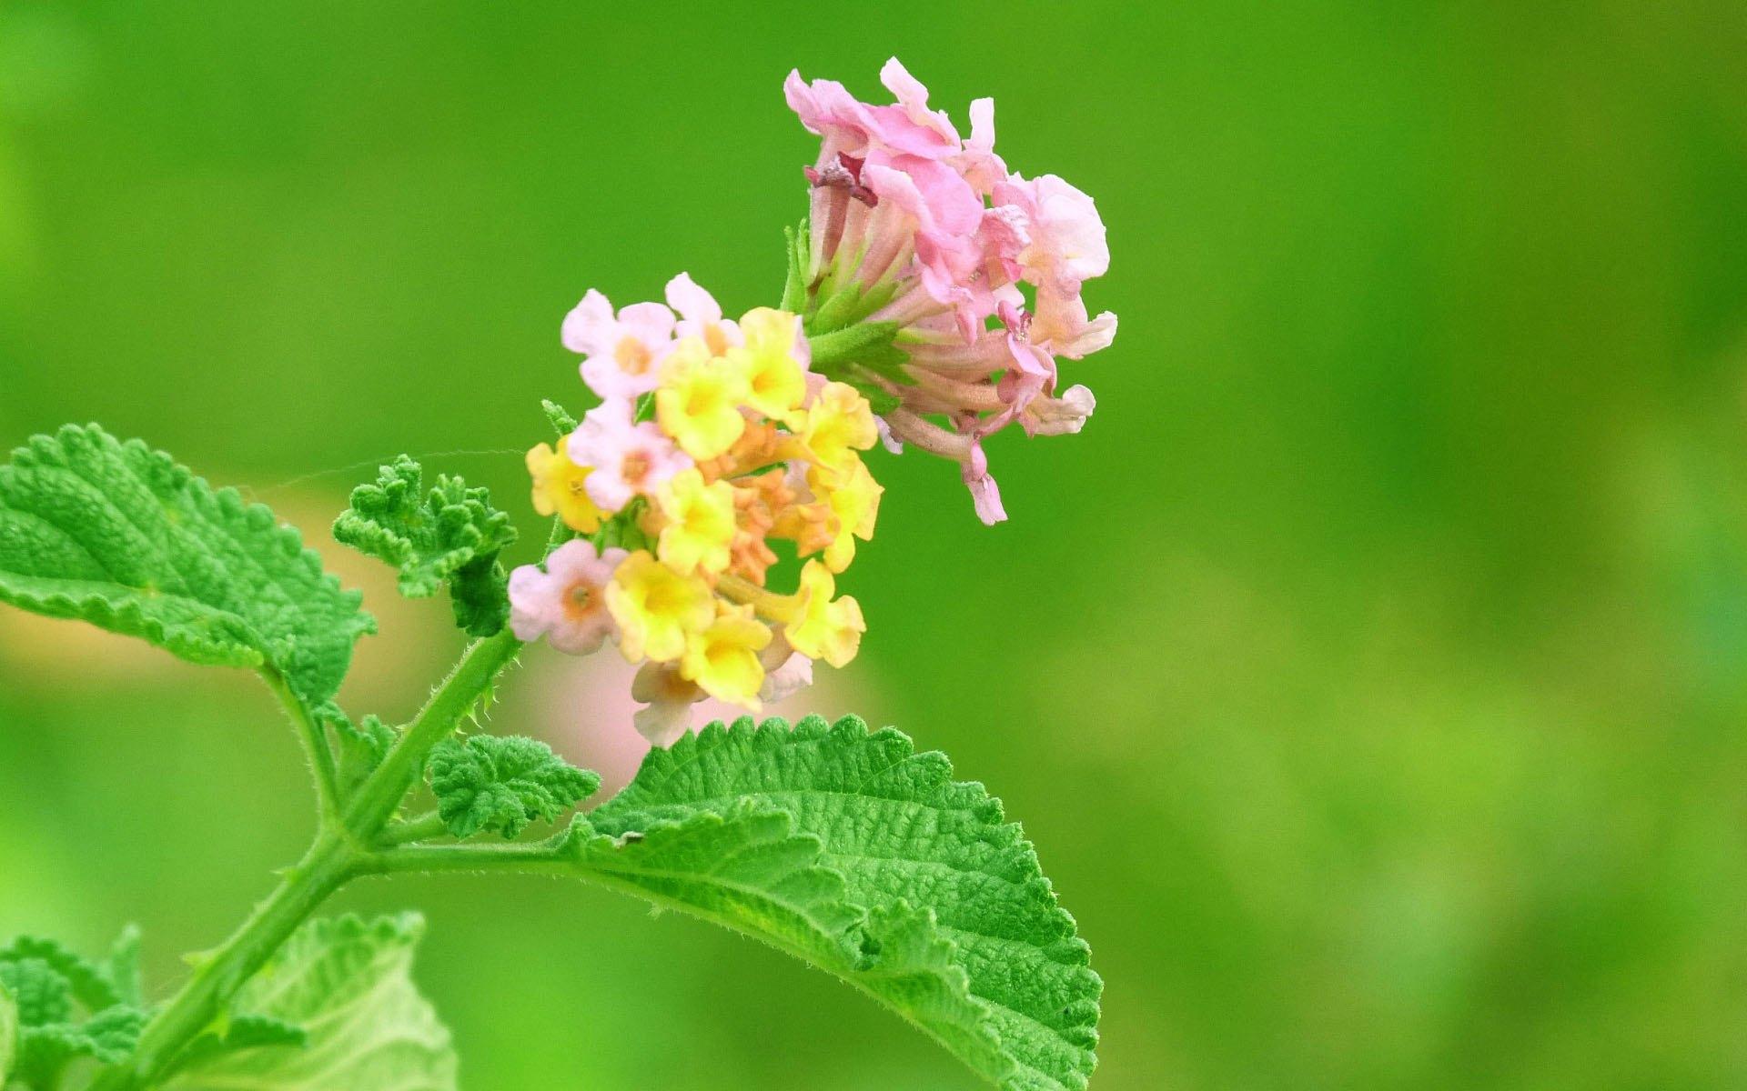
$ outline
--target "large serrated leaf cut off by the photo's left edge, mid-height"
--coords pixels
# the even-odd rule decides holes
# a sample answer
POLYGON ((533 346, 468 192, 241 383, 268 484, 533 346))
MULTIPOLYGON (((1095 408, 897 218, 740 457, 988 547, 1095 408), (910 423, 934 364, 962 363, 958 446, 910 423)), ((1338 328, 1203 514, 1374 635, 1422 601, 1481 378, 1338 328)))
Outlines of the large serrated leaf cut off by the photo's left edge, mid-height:
POLYGON ((280 674, 309 705, 376 632, 266 506, 96 424, 35 436, 0 466, 0 602, 280 674))

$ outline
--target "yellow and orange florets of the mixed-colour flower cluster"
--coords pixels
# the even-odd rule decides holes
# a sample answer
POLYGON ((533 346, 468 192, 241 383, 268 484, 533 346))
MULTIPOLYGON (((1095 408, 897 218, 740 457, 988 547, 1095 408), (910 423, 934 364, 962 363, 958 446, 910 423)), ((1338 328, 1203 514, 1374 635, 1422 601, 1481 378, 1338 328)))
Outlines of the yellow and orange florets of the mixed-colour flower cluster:
MULTIPOLYGON (((851 386, 809 382, 798 319, 760 307, 735 340, 681 337, 662 360, 653 421, 690 466, 624 510, 646 548, 604 595, 625 658, 756 710, 767 669, 791 653, 854 658, 867 625, 835 574, 872 539, 882 489, 860 456, 879 442, 874 412, 851 386), (793 594, 765 587, 772 539, 804 559, 793 594)), ((603 525, 580 487, 589 468, 535 449, 529 470, 542 511, 603 525)))

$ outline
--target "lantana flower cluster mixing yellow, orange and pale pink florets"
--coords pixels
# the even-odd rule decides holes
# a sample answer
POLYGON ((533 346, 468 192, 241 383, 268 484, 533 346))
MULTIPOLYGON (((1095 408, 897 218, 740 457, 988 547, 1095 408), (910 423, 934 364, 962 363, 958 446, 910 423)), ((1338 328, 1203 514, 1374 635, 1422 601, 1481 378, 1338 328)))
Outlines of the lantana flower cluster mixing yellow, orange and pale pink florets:
POLYGON ((589 292, 563 340, 601 403, 528 452, 535 508, 578 536, 510 574, 515 635, 571 655, 613 639, 655 740, 704 695, 758 710, 814 660, 853 660, 867 625, 837 576, 874 536, 879 431, 865 396, 809 372, 800 318, 727 319, 680 274, 666 304, 589 292), (769 587, 776 539, 802 559, 788 594, 769 587))

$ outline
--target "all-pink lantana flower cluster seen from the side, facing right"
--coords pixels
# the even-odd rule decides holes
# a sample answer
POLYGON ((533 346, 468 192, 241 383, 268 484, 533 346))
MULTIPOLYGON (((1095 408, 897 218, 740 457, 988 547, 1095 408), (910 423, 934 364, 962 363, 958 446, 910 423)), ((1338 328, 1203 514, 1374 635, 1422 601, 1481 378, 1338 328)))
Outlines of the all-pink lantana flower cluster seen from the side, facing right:
POLYGON ((994 524, 1006 511, 982 442, 1015 422, 1027 435, 1080 431, 1092 414, 1092 391, 1057 389, 1055 361, 1116 335, 1116 316, 1088 318, 1081 298, 1085 281, 1109 267, 1104 223, 1092 197, 1055 175, 1006 169, 992 99, 971 103, 961 138, 896 58, 880 82, 896 103, 863 103, 798 72, 784 84, 788 105, 821 136, 807 168, 809 333, 840 318, 900 325, 903 377, 870 379, 900 401, 882 414, 887 445, 954 459, 977 513, 994 524))

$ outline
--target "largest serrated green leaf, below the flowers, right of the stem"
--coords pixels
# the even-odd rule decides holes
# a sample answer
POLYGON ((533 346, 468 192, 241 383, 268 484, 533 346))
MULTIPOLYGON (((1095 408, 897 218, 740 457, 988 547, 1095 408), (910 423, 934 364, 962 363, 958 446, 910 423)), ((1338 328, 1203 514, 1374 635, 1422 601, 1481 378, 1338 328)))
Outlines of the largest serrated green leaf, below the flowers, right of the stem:
POLYGON ((578 822, 571 866, 884 1000, 1010 1091, 1081 1089, 1102 983, 1020 827, 856 717, 711 724, 578 822))

